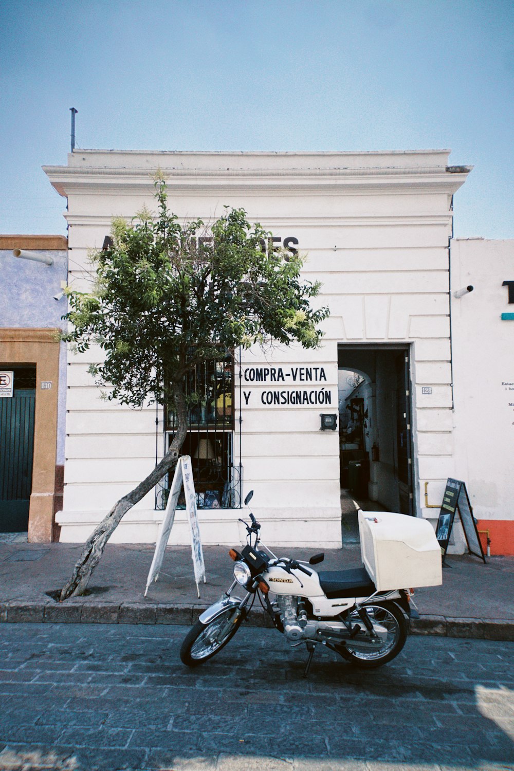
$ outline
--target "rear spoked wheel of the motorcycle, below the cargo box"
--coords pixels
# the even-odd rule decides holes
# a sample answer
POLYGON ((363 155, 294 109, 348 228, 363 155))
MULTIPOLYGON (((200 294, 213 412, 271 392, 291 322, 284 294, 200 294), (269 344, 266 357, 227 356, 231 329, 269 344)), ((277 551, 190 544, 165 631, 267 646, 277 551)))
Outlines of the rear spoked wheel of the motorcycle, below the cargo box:
MULTIPOLYGON (((395 658, 405 645, 407 623, 404 614, 393 602, 377 602, 364 607, 375 628, 375 633, 381 638, 381 646, 366 649, 364 646, 359 646, 357 642, 352 645, 352 642, 348 641, 344 649, 338 652, 358 667, 380 667, 395 658)), ((351 614, 351 620, 356 622, 361 620, 357 611, 351 614)))

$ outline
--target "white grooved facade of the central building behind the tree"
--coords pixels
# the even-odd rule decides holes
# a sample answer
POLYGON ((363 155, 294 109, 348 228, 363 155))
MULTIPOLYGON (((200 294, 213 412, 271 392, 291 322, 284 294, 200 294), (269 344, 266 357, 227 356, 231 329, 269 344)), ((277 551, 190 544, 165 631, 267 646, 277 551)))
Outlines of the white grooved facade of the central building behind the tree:
MULTIPOLYGON (((254 511, 270 544, 341 545, 341 479, 351 463, 351 437, 341 436, 339 425, 321 430, 321 414, 339 424, 341 370, 365 379, 367 401, 352 409, 361 409, 371 500, 436 520, 433 507, 447 477, 461 473, 467 481, 454 429, 450 332, 451 290, 467 279, 451 274, 449 247, 453 195, 469 168, 448 167, 448 153, 76 150, 68 166, 45 167, 68 199, 69 283, 76 288, 90 285, 89 250, 102 247, 112 218, 133 217, 143 204, 155 208, 157 168, 179 217, 208 223, 225 204, 244 207, 276 243, 307 255, 304 278, 322 282, 319 301, 331 309, 321 348, 254 348, 235 357, 224 453, 241 473, 236 505, 254 490, 254 511)), ((459 300, 459 308, 466 299, 472 298, 459 300)), ((85 540, 152 470, 166 443, 162 411, 99 399, 87 372, 96 355, 69 353, 61 540, 85 540)), ((514 381, 514 374, 504 379, 514 381)), ((208 430, 200 429, 207 442, 208 430)), ((463 431, 462 443, 468 441, 463 431)), ((200 439, 194 447, 200 458, 200 439)), ((220 492, 215 507, 200 510, 205 544, 239 540, 240 514, 227 500, 236 499, 220 492)), ((162 516, 149 493, 113 541, 155 541, 162 516)), ((170 542, 189 542, 185 512, 177 513, 170 542)), ((457 537, 455 548, 461 547, 457 537)))

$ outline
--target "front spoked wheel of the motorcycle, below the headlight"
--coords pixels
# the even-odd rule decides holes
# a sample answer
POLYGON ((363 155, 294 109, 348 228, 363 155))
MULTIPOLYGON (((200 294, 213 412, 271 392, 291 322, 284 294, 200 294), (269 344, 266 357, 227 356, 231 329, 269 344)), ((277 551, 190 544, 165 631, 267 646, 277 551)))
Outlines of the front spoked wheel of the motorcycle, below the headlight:
POLYGON ((235 608, 230 606, 210 624, 197 621, 187 633, 180 648, 182 663, 188 667, 196 667, 202 662, 207 662, 208 658, 212 658, 233 638, 243 618, 244 612, 241 613, 237 606, 235 608))

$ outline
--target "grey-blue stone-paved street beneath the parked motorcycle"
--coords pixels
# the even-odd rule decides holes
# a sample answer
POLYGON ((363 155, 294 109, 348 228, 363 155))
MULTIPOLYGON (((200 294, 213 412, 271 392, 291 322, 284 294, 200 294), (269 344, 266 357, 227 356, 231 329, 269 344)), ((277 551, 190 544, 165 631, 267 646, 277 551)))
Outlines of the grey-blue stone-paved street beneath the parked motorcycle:
POLYGON ((211 662, 179 626, 0 626, 0 769, 514 768, 514 643, 411 637, 375 672, 242 628, 211 662))

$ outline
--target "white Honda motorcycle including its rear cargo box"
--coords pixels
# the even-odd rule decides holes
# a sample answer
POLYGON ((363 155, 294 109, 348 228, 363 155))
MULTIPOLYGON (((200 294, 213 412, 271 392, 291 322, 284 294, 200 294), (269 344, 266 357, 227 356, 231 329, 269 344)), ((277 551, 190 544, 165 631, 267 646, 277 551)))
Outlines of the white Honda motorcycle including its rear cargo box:
MULTIPOLYGON (((248 493, 248 505, 253 491, 248 493)), ((307 645, 304 675, 316 645, 326 645, 365 668, 390 662, 405 645, 409 617, 417 617, 408 586, 442 583, 441 550, 426 520, 404 514, 359 511, 364 567, 315 571, 323 561, 277 557, 260 541, 260 524, 250 511, 247 545, 230 549, 234 581, 220 601, 204 611, 180 648, 183 664, 207 661, 227 645, 255 598, 293 645, 307 645), (409 580, 407 580, 409 579, 409 580), (401 587, 401 588, 398 588, 401 587), (244 589, 244 596, 233 592, 244 589)))

